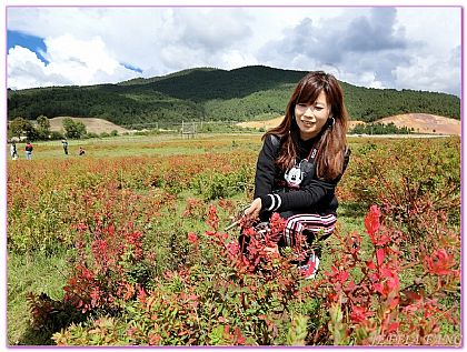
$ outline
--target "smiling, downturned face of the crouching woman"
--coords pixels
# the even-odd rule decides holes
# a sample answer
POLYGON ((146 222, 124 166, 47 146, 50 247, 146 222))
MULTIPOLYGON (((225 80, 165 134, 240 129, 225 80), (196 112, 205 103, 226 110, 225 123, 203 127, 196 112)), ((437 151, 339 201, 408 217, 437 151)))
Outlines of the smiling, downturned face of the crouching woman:
POLYGON ((324 91, 319 93, 315 102, 296 104, 295 120, 300 130, 300 138, 306 141, 317 137, 325 127, 329 113, 330 105, 328 105, 324 91))

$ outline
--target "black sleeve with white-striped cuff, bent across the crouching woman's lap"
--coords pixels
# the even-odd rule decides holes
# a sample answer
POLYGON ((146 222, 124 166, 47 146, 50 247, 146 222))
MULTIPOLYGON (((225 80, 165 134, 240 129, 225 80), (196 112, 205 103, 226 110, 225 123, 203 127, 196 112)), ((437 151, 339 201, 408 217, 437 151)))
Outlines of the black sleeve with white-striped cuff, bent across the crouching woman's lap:
MULTIPOLYGON (((350 150, 346 151, 344 158, 342 173, 349 162, 350 150)), ((324 199, 334 198, 337 183, 342 173, 332 181, 311 180, 309 184, 300 190, 287 193, 265 194, 261 197, 262 210, 282 212, 287 210, 309 209, 324 199)))

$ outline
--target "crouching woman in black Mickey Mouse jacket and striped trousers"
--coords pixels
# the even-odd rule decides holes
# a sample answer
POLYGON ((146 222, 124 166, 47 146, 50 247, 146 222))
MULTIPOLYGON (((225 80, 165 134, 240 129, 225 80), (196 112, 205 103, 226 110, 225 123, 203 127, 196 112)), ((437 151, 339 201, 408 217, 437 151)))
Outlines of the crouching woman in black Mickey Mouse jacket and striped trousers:
MULTIPOLYGON (((278 212, 286 219, 282 238, 270 251, 295 247, 299 235, 305 237, 307 258, 299 270, 307 278, 315 278, 320 243, 334 232, 337 221, 335 190, 350 155, 347 120, 339 82, 315 71, 298 82, 282 122, 262 137, 254 201, 245 215, 265 222, 278 212)), ((241 234, 244 251, 248 242, 241 234)))

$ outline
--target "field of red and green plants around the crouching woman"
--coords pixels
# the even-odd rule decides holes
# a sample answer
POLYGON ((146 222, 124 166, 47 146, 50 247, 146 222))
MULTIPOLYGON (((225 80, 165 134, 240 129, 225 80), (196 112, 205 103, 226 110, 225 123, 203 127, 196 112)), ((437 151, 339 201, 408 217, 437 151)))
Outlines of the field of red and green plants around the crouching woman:
POLYGON ((280 218, 244 223, 249 258, 225 230, 258 134, 36 143, 8 161, 8 344, 459 346, 460 139, 349 143, 315 280, 264 250, 280 218))

